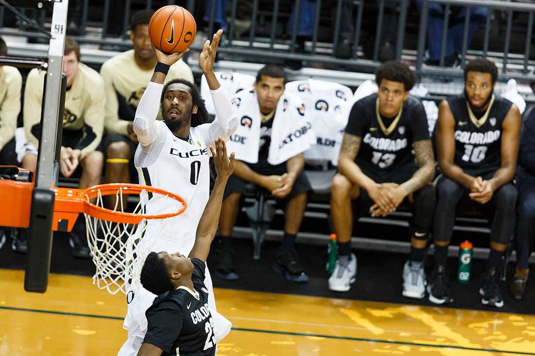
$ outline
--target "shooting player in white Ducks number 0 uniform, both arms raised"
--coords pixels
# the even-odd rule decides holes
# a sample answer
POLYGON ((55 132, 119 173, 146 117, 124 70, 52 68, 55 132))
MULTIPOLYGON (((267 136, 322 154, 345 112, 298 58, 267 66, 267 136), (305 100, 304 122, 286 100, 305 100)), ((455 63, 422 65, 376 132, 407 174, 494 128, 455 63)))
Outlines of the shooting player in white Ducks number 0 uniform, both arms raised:
MULTIPOLYGON (((144 232, 143 239, 155 239, 152 249, 188 254, 195 242, 195 232, 204 206, 209 197, 208 149, 218 136, 226 141, 236 127, 236 118, 230 99, 221 90, 213 62, 223 30, 213 35, 213 40, 204 43, 199 56, 199 66, 207 79, 217 120, 206 123, 208 112, 204 107, 198 88, 186 80, 172 80, 163 85, 169 67, 188 51, 165 55, 155 49, 158 64, 137 106, 133 129, 140 142, 134 163, 140 183, 161 188, 184 198, 186 211, 166 221, 152 221, 144 232), (159 104, 162 105, 163 121, 156 120, 159 104)), ((162 200, 149 195, 147 213, 161 211, 162 200)), ((230 331, 231 324, 217 314, 208 269, 204 284, 209 290, 208 305, 217 326, 216 339, 230 331)), ((145 312, 155 295, 146 289, 137 288, 128 292, 128 312, 123 327, 128 330, 128 340, 119 355, 135 355, 147 331, 145 312)))

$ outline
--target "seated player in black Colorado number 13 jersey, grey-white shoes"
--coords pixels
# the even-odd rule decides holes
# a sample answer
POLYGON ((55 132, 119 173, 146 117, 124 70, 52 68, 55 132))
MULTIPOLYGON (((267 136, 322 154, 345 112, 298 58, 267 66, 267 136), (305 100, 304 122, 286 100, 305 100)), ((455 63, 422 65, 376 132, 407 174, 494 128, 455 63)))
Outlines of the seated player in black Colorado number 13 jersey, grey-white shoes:
POLYGON ((423 298, 424 247, 435 204, 434 188, 428 184, 434 158, 427 118, 422 103, 409 96, 415 74, 407 65, 388 61, 377 69, 376 81, 377 94, 358 100, 351 109, 339 173, 331 185, 338 261, 329 288, 348 291, 355 281, 356 257, 349 241, 353 229, 351 200, 358 198, 359 215, 369 211, 375 217, 390 214, 408 198, 414 204, 414 219, 410 259, 403 268, 403 296, 423 298))

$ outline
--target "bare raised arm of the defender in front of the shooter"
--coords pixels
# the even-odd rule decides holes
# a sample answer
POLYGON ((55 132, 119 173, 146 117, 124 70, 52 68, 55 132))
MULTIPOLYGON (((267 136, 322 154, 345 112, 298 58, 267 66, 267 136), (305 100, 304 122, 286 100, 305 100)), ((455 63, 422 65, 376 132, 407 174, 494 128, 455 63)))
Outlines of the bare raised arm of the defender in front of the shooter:
POLYGON ((217 178, 197 226, 195 244, 189 253, 189 258, 198 258, 202 261, 206 261, 210 251, 210 244, 213 237, 216 236, 221 202, 223 202, 223 192, 225 191, 228 177, 234 172, 234 152, 232 152, 230 158, 227 156, 227 148, 223 138, 216 138, 215 149, 210 146, 210 151, 213 157, 213 164, 216 166, 217 178))

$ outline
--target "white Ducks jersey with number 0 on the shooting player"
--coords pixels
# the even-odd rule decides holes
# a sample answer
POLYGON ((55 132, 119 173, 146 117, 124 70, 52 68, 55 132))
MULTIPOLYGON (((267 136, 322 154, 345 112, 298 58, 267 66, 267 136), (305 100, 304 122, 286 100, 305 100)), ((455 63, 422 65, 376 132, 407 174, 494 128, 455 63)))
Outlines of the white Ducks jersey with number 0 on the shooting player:
MULTIPOLYGON (((197 225, 201 219, 209 198, 210 189, 210 149, 208 148, 208 128, 210 124, 193 127, 189 130, 187 140, 173 135, 163 121, 166 133, 162 140, 150 152, 137 147, 135 164, 140 177, 140 184, 164 189, 184 198, 186 211, 173 218, 152 220, 148 222, 145 238, 154 237, 161 240, 154 250, 173 253, 175 246, 193 245, 197 225)), ((178 204, 174 200, 159 194, 146 194, 140 197, 147 202, 147 214, 161 214, 176 211, 178 204)), ((189 251, 179 251, 189 253, 189 251)))

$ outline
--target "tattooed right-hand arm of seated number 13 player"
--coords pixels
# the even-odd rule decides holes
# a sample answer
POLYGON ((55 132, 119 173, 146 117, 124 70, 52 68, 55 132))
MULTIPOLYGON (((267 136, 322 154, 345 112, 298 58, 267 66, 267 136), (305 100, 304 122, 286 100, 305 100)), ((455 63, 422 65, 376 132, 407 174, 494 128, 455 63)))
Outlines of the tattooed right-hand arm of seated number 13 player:
POLYGON ((433 146, 431 140, 416 141, 412 144, 418 163, 418 170, 412 175, 411 179, 401 184, 407 194, 411 194, 422 188, 425 184, 433 179, 435 160, 433 155, 433 146))

